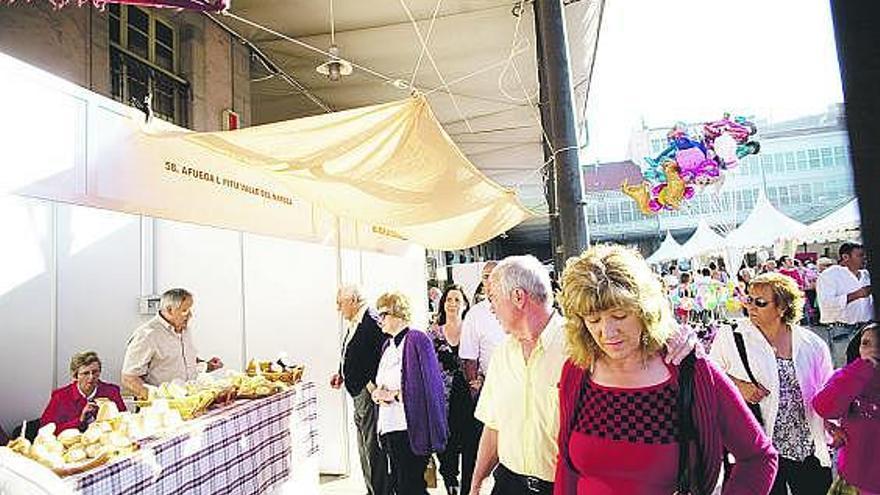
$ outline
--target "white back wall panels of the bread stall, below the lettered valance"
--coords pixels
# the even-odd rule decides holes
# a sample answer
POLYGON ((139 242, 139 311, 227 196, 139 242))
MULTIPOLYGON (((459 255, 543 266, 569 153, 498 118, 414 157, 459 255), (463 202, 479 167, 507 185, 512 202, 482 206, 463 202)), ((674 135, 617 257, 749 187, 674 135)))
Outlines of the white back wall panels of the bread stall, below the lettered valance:
POLYGON ((324 472, 348 468, 351 406, 325 386, 337 365, 337 280, 370 300, 399 290, 427 321, 424 250, 402 254, 260 236, 15 196, 0 197, 0 425, 39 417, 53 388, 69 382, 78 351, 102 358, 119 382, 125 344, 149 316, 141 294, 172 286, 196 297, 192 331, 202 356, 241 369, 246 357, 285 351, 318 383, 324 472), (342 260, 346 260, 342 262, 342 260), (341 267, 342 272, 339 271, 341 267))

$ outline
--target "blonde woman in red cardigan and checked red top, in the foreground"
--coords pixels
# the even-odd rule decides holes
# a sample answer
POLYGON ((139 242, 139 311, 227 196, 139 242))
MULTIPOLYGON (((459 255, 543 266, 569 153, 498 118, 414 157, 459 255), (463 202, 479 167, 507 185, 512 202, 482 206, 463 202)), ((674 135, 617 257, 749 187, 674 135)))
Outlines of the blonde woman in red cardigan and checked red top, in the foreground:
POLYGON ((637 252, 599 245, 570 260, 560 299, 569 358, 556 495, 709 494, 724 449, 738 461, 724 494, 770 490, 776 452, 730 379, 702 358, 686 359, 687 373, 664 362, 678 327, 637 252))

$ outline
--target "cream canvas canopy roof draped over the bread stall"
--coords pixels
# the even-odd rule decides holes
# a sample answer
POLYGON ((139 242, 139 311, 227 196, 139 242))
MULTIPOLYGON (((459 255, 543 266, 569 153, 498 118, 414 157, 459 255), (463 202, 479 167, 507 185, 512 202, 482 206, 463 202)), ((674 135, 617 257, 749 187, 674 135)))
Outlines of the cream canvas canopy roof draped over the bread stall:
POLYGON ((468 248, 532 216, 515 191, 467 159, 423 96, 236 131, 144 139, 206 149, 270 176, 297 198, 429 249, 468 248))

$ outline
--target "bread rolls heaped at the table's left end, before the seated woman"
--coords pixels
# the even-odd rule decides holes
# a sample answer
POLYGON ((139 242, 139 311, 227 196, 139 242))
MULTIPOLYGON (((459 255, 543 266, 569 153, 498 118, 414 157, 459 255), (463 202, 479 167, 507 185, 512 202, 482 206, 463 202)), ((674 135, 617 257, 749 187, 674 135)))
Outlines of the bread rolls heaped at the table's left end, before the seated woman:
POLYGON ((130 431, 130 418, 134 415, 120 413, 110 400, 98 399, 97 402, 97 420, 84 432, 76 428, 56 432, 55 423, 49 423, 40 428, 33 442, 22 436, 9 442, 7 447, 49 467, 59 476, 88 471, 137 450, 130 431))

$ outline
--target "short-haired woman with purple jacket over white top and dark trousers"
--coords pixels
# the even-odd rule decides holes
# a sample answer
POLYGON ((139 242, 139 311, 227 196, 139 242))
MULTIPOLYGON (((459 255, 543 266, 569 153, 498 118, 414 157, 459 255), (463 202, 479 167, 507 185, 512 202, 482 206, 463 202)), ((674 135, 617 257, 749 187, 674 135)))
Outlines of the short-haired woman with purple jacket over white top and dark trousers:
POLYGON ((373 401, 379 405, 379 441, 388 453, 399 495, 427 495, 424 472, 432 452, 446 446, 443 378, 431 338, 409 328, 411 310, 403 294, 376 302, 379 325, 391 338, 382 350, 373 401))

